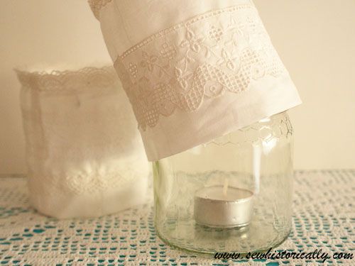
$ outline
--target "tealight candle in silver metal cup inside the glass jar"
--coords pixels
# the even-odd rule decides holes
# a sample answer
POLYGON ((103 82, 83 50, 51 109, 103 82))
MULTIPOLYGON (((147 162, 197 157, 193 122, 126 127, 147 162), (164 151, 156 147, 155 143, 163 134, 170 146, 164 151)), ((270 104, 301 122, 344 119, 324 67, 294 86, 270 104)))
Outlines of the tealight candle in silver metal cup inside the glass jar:
POLYGON ((195 194, 195 221, 202 226, 246 226, 253 215, 253 192, 236 187, 204 187, 195 194))

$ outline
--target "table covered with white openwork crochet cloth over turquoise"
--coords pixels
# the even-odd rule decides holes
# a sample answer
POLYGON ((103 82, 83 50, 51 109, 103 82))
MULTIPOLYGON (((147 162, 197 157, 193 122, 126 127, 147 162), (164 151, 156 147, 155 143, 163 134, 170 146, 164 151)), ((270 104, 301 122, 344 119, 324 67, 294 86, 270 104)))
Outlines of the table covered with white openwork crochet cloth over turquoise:
MULTIPOLYGON (((295 172, 293 232, 276 250, 355 253, 355 170, 295 172)), ((355 254, 354 254, 355 255, 355 254)), ((58 220, 28 204, 26 178, 0 178, 0 265, 323 265, 319 260, 214 260, 165 245, 151 204, 58 220)), ((327 260, 327 265, 355 265, 327 260)))

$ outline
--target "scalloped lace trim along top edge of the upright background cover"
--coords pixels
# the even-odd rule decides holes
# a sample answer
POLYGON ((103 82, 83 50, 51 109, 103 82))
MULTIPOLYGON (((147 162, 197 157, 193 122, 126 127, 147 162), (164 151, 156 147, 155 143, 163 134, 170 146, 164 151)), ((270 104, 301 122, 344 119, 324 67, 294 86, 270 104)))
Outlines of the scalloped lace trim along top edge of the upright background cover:
POLYGON ((119 79, 114 67, 85 67, 77 71, 26 72, 15 70, 23 87, 41 92, 77 92, 108 87, 119 79))

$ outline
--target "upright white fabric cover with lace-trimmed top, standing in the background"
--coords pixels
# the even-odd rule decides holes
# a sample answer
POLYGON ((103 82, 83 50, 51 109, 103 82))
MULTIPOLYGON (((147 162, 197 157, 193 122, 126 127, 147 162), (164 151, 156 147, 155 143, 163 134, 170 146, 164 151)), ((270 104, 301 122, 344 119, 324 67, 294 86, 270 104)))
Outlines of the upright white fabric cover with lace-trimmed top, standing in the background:
POLYGON ((35 209, 90 217, 144 203, 148 161, 114 68, 17 73, 35 209))

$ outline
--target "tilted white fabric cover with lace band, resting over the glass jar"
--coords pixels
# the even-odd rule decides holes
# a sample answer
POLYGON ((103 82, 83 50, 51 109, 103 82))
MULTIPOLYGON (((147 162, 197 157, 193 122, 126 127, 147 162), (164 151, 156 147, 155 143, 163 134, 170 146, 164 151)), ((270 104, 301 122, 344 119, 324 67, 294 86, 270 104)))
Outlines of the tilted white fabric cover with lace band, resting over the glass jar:
POLYGON ((148 160, 301 103, 250 0, 89 0, 148 160))

